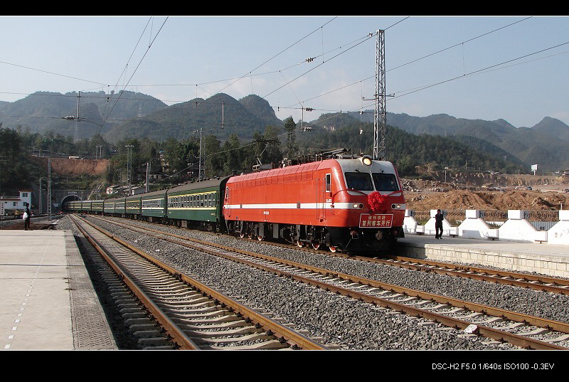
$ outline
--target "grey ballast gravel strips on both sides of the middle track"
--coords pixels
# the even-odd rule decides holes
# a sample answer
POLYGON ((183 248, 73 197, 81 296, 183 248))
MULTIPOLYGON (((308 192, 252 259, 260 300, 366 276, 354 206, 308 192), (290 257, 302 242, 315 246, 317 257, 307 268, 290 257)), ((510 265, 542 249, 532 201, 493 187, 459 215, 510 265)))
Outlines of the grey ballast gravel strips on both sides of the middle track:
MULTIPOLYGON (((294 324, 294 329, 306 330, 309 336, 321 337, 323 344, 337 345, 340 349, 377 350, 517 349, 509 344, 484 344, 487 339, 467 335, 457 329, 405 314, 394 314, 390 309, 358 302, 285 277, 254 270, 230 260, 183 248, 174 243, 159 241, 142 233, 117 228, 98 220, 93 221, 137 247, 153 253, 189 276, 219 287, 225 290, 227 295, 241 299, 245 304, 271 312, 275 317, 294 324)), ((180 230, 140 221, 134 223, 186 235, 189 238, 304 262, 335 272, 569 322, 569 299, 565 295, 405 270, 353 259, 334 258, 294 248, 278 248, 256 240, 239 240, 227 235, 180 230)), ((72 227, 68 218, 63 218, 58 224, 58 229, 72 229, 72 227)))

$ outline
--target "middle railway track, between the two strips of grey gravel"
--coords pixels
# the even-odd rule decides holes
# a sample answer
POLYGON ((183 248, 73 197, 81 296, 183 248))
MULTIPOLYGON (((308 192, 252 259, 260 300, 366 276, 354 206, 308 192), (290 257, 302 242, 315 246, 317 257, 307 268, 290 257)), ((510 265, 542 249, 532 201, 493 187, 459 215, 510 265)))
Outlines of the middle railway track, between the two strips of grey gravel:
POLYGON ((569 324, 564 322, 388 285, 281 258, 205 243, 182 235, 116 221, 112 223, 161 240, 257 267, 265 272, 306 282, 362 302, 392 309, 393 312, 404 312, 414 317, 440 322, 448 327, 462 329, 472 335, 486 336, 494 341, 507 341, 525 349, 567 349, 566 346, 569 345, 569 324))

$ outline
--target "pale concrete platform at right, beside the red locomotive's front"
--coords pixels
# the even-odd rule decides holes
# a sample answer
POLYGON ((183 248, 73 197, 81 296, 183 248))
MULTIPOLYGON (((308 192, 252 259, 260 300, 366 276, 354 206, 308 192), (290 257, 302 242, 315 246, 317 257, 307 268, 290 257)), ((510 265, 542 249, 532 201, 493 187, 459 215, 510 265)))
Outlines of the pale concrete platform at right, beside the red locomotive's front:
POLYGON ((406 234, 398 255, 569 278, 569 246, 406 234))

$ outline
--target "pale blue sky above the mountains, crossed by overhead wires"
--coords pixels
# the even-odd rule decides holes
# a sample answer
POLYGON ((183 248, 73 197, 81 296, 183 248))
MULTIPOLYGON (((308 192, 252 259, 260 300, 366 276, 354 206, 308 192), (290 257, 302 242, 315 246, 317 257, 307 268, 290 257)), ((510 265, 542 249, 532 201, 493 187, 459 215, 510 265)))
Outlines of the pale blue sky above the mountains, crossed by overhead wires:
POLYGON ((9 102, 36 91, 127 89, 168 105, 254 93, 295 121, 301 105, 314 109, 307 121, 373 109, 376 38, 368 34, 385 29, 388 112, 569 124, 568 17, 1 16, 0 23, 0 100, 9 102))

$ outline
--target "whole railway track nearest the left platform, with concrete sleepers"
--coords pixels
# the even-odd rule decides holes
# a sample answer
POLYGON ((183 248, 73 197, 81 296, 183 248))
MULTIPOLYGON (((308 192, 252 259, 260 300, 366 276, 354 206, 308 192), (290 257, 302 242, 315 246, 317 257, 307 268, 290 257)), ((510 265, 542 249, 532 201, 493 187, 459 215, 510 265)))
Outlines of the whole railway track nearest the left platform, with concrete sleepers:
POLYGON ((144 304, 175 349, 327 349, 102 228, 72 219, 144 304))

